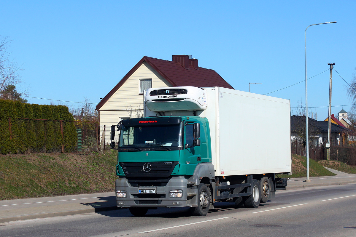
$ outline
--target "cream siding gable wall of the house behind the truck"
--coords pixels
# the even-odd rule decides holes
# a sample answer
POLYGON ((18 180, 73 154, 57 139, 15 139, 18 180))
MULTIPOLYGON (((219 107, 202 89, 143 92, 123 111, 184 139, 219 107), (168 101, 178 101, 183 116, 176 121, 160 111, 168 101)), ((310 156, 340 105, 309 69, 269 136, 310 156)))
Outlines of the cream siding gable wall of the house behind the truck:
POLYGON ((100 141, 105 125, 105 143, 110 143, 110 127, 122 118, 137 118, 143 115, 143 93, 140 92, 140 79, 152 79, 152 88, 171 87, 172 85, 158 74, 149 64, 141 66, 117 89, 100 108, 100 141))

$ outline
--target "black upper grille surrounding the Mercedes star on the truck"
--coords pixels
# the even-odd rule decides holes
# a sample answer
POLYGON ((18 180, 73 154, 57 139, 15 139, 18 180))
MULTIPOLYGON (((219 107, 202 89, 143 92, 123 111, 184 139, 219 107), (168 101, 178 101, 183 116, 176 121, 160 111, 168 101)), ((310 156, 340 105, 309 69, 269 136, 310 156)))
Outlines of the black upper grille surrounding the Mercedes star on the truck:
MULTIPOLYGON (((166 162, 170 163, 170 162, 166 162)), ((122 169, 127 177, 169 177, 178 161, 172 164, 163 164, 163 162, 120 162, 122 169), (143 165, 149 163, 151 170, 143 171, 143 165)))

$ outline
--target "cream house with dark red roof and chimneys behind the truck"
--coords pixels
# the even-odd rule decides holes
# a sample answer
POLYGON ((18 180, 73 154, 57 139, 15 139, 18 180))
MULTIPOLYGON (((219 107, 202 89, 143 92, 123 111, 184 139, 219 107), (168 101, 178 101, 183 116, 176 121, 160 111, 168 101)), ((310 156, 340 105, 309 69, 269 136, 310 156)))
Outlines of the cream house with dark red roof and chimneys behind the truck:
POLYGON ((142 117, 143 93, 148 88, 172 86, 234 89, 216 71, 198 66, 198 59, 191 55, 173 55, 172 61, 144 56, 96 106, 100 135, 104 125, 109 138, 111 125, 125 118, 142 117))

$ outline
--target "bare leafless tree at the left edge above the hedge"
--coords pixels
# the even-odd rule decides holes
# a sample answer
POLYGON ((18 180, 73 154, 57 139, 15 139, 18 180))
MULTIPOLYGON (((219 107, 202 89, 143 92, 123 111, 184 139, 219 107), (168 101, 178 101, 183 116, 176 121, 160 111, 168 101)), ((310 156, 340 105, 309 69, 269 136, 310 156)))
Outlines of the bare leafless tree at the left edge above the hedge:
POLYGON ((20 72, 23 69, 21 66, 17 66, 14 59, 10 57, 8 52, 10 42, 8 37, 0 40, 0 98, 27 102, 27 100, 21 98, 25 95, 26 90, 22 92, 16 90, 16 86, 23 82, 20 77, 20 72))

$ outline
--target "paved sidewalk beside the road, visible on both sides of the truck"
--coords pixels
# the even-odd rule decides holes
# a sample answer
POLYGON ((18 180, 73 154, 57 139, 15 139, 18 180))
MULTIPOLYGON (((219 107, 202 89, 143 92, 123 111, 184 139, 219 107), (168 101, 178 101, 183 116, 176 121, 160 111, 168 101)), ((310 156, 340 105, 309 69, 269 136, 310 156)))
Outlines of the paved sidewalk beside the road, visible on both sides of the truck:
MULTIPOLYGON (((287 190, 356 183, 356 174, 333 170, 336 176, 293 178, 287 181, 287 190)), ((277 191, 283 192, 283 191, 277 191)), ((54 216, 77 215, 116 209, 115 192, 28 198, 0 201, 0 223, 54 216)))

